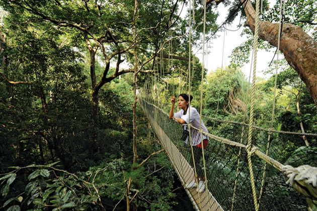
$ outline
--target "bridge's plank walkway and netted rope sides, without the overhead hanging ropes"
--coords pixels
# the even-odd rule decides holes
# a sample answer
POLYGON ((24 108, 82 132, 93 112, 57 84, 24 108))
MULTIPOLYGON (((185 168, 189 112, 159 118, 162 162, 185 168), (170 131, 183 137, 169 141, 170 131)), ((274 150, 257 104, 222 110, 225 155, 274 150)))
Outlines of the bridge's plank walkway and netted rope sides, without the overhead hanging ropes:
MULTIPOLYGON (((168 114, 157 107, 155 101, 142 98, 140 94, 138 101, 182 184, 193 181, 194 169, 188 163, 192 156, 191 147, 182 141, 183 125, 169 120, 168 114)), ((209 130, 215 120, 203 121, 209 130)), ((309 149, 300 147, 293 155, 286 156, 275 147, 283 136, 295 140, 302 134, 283 134, 254 127, 253 148, 248 153, 245 145, 248 143, 247 124, 217 121, 217 125, 214 130, 209 130, 212 131, 210 134, 205 134, 210 137, 204 153, 207 188, 200 194, 196 188, 185 189, 196 210, 307 210, 306 201, 310 207, 314 206, 317 191, 316 176, 313 175, 316 174, 311 172, 316 168, 306 166, 305 172, 299 172, 298 168, 302 167, 289 166, 294 163, 314 165, 316 161, 305 159, 309 149), (271 139, 268 139, 269 135, 271 139), (254 176, 249 171, 248 156, 252 156, 254 176), (287 183, 297 185, 295 188, 304 196, 286 184, 283 173, 289 177, 287 183), (250 180, 254 180, 256 199, 250 180)))

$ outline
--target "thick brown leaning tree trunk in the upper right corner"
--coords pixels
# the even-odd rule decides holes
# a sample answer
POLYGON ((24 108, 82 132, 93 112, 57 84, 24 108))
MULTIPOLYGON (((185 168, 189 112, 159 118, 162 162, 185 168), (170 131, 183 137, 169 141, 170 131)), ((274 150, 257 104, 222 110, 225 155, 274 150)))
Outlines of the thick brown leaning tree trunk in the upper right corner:
MULTIPOLYGON (((243 0, 240 0, 244 2, 243 0)), ((250 1, 245 3, 246 26, 255 30, 256 13, 250 1)), ((260 21, 259 37, 277 47, 278 23, 260 21)), ((317 42, 299 26, 285 23, 282 28, 280 50, 288 64, 293 67, 306 84, 317 107, 317 42)))

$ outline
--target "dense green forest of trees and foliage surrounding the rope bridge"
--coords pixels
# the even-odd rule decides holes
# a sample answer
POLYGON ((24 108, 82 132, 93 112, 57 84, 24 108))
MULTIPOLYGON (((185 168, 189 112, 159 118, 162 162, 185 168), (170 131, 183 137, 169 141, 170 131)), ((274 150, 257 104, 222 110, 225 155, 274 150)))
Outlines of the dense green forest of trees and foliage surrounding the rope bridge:
MULTIPOLYGON (((0 0, 1 209, 191 210, 137 91, 168 112, 172 94, 191 86, 193 106, 201 103, 204 116, 248 123, 251 83, 240 68, 252 53, 255 4, 208 0, 204 11, 195 1, 192 22, 189 4, 0 0), (204 12, 206 40, 223 30, 219 4, 228 10, 227 24, 245 22, 248 40, 230 64, 208 71, 194 49, 203 45, 204 12), (191 77, 188 59, 163 54, 191 58, 191 77)), ((263 4, 260 47, 275 48, 279 4, 263 4)), ((265 70, 269 79, 256 80, 256 126, 270 128, 272 119, 275 130, 317 133, 316 10, 312 0, 286 1, 279 49, 285 59, 265 70)), ((305 146, 312 159, 315 145, 315 138, 285 136, 280 158, 305 146)))

